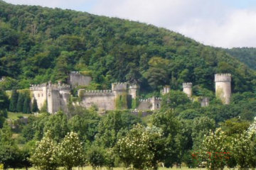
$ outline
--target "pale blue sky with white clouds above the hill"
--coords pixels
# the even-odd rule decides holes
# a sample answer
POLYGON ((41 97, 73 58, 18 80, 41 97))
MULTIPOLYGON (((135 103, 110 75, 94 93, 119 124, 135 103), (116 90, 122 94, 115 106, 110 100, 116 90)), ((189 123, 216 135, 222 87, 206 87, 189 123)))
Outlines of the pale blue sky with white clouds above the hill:
POLYGON ((256 0, 4 1, 140 21, 174 30, 215 47, 256 47, 256 0))

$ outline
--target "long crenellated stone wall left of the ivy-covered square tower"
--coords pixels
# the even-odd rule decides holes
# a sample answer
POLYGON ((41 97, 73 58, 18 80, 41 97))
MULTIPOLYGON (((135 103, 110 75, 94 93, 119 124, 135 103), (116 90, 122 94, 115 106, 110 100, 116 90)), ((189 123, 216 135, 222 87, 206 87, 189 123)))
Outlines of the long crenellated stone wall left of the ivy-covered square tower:
POLYGON ((110 90, 85 91, 80 89, 78 96, 81 98, 80 106, 85 108, 96 105, 99 111, 111 111, 115 109, 115 94, 110 90))

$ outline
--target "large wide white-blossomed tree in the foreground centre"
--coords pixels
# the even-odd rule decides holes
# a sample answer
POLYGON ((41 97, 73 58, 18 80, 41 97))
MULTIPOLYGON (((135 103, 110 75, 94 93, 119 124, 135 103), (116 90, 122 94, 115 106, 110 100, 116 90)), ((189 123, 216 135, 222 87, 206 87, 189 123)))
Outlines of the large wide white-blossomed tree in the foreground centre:
POLYGON ((159 128, 134 125, 127 135, 118 140, 116 152, 125 166, 134 169, 157 169, 164 149, 159 128))

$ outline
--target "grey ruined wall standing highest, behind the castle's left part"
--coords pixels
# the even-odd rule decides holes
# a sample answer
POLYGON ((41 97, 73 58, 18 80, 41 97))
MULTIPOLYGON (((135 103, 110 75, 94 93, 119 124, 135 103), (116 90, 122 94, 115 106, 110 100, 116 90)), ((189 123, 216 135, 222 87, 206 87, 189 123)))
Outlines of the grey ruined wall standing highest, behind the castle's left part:
POLYGON ((90 81, 92 81, 90 76, 82 75, 80 72, 70 72, 68 84, 74 88, 76 86, 88 86, 90 81))

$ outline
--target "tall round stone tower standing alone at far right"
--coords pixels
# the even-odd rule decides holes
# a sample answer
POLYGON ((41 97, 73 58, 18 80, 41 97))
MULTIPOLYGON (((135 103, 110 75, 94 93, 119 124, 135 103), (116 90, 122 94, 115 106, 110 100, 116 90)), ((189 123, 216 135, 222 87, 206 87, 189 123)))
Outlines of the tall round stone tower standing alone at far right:
POLYGON ((231 74, 215 74, 215 95, 224 104, 230 103, 231 74))

